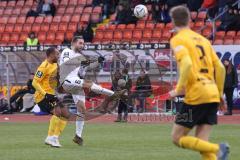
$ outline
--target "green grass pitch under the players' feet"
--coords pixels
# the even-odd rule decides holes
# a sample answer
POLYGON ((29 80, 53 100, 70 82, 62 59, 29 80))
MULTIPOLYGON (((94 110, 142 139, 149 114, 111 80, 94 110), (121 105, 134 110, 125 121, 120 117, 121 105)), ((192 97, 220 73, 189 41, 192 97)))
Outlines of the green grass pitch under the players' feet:
MULTIPOLYGON (((171 143, 167 124, 86 124, 85 145, 72 142, 75 125, 61 136, 63 148, 43 144, 47 123, 1 123, 1 160, 200 160, 198 153, 171 143)), ((240 157, 240 125, 215 126, 211 141, 231 145, 230 160, 240 157)))

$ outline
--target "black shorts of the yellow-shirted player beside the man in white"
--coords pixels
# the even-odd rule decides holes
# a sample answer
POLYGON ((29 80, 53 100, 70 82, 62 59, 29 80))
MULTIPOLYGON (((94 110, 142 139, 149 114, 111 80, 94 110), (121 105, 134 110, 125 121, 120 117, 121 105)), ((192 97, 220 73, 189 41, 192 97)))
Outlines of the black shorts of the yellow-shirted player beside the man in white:
POLYGON ((44 98, 42 101, 40 101, 37 104, 38 104, 39 108, 41 109, 41 111, 50 113, 50 114, 52 114, 54 107, 61 107, 61 108, 64 107, 62 102, 60 102, 58 99, 54 102, 49 102, 48 100, 46 100, 44 98))

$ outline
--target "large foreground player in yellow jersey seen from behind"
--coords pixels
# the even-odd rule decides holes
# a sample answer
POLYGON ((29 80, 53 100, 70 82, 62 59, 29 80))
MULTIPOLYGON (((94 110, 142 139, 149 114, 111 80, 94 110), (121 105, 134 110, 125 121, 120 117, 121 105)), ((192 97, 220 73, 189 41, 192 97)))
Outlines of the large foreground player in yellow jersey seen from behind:
POLYGON ((184 6, 171 9, 176 35, 170 45, 177 61, 179 79, 171 97, 185 94, 184 105, 176 115, 173 143, 198 151, 203 160, 227 160, 229 145, 208 141, 212 125, 217 124, 224 86, 224 67, 210 42, 189 28, 190 12, 184 6), (189 136, 196 127, 195 136, 189 136))

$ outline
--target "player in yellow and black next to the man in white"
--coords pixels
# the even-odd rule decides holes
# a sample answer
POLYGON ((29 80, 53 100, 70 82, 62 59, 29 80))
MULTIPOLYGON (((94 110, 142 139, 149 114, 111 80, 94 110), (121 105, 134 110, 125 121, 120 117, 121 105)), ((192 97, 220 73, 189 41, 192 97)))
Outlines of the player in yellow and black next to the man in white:
POLYGON ((59 52, 55 48, 49 48, 46 51, 47 58, 38 67, 33 79, 33 86, 36 89, 35 102, 40 107, 41 111, 53 114, 50 119, 48 136, 45 139, 45 144, 53 147, 61 147, 58 137, 65 128, 67 121, 59 118, 59 107, 56 105, 57 98, 55 90, 57 88, 58 66, 57 60, 59 52))

